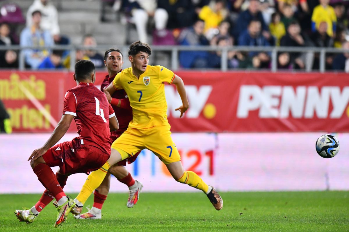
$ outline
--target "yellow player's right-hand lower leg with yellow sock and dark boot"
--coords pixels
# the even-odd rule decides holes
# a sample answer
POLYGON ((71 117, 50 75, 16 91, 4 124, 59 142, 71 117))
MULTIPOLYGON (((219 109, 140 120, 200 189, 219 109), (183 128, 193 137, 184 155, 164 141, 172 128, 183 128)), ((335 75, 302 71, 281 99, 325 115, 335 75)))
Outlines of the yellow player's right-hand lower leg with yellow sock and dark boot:
POLYGON ((217 193, 214 187, 209 186, 205 182, 203 182, 203 180, 193 171, 184 171, 181 161, 168 163, 166 164, 166 167, 176 181, 202 190, 207 195, 208 199, 211 201, 215 209, 222 209, 223 199, 217 193))

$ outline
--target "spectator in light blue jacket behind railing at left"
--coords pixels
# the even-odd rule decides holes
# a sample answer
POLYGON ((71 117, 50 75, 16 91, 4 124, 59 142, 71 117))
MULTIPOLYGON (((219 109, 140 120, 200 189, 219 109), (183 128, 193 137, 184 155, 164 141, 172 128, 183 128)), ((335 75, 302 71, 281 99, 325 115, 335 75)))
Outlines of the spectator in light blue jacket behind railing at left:
MULTIPOLYGON (((53 38, 50 31, 40 28, 41 12, 36 10, 32 13, 32 25, 21 32, 21 47, 49 47, 53 46, 53 38)), ((49 55, 47 49, 23 49, 25 62, 32 68, 37 69, 41 62, 49 55)))

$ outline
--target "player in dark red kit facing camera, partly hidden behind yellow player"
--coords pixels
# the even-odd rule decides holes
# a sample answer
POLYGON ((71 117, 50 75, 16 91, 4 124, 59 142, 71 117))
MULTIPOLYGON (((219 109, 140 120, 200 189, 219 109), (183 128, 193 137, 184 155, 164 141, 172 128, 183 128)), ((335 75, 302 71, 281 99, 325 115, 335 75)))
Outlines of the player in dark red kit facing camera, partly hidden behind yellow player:
MULTIPOLYGON (((110 83, 113 82, 116 74, 118 74, 122 70, 124 60, 121 51, 114 48, 107 50, 104 54, 104 64, 107 67, 108 75, 105 76, 105 79, 101 85, 102 91, 104 91, 104 88, 109 86, 110 83)), ((125 130, 127 130, 128 123, 132 120, 132 108, 123 89, 115 91, 113 96, 110 96, 109 92, 107 91, 105 91, 105 94, 115 113, 118 115, 119 121, 119 129, 110 133, 111 145, 112 142, 114 142, 122 133, 124 133, 125 130)), ((136 153, 133 157, 128 158, 128 164, 135 161, 139 153, 140 152, 136 153)), ((107 194, 109 193, 110 188, 110 174, 114 175, 118 179, 118 181, 128 186, 129 195, 127 200, 127 207, 131 208, 137 203, 139 194, 142 191, 143 186, 141 182, 133 179, 131 173, 129 173, 124 167, 125 165, 126 160, 122 160, 108 170, 108 173, 106 174, 102 184, 99 185, 99 187, 94 191, 93 207, 87 213, 76 215, 75 218, 102 218, 102 206, 105 199, 107 198, 107 194)), ((77 201, 77 199, 75 199, 75 201, 77 201)), ((84 202, 81 202, 81 204, 83 203, 84 202)))

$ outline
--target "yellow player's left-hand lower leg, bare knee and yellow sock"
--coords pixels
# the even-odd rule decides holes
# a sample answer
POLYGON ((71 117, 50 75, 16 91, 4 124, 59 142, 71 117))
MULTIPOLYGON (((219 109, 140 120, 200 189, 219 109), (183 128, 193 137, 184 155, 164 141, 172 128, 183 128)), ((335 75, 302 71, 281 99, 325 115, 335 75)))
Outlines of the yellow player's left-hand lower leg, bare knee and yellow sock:
POLYGON ((108 161, 98 170, 92 171, 92 173, 90 173, 90 175, 86 179, 79 195, 77 195, 77 197, 74 199, 77 206, 82 207, 84 205, 84 203, 91 195, 92 191, 97 189, 97 187, 102 184, 104 177, 106 176, 110 167, 121 160, 122 157, 120 152, 112 148, 108 161))

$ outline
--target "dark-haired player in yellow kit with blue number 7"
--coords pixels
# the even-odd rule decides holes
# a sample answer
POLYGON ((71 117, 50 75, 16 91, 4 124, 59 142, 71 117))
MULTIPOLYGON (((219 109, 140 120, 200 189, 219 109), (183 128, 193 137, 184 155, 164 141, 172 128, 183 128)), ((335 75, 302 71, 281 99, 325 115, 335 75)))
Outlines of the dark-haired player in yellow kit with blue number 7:
MULTIPOLYGON (((107 170, 120 160, 149 149, 164 162, 176 181, 202 190, 215 209, 220 210, 223 207, 220 195, 196 173, 184 171, 177 147, 171 138, 164 82, 176 85, 183 104, 176 110, 180 111, 182 117, 189 107, 183 80, 163 66, 148 65, 149 55, 151 49, 147 43, 132 43, 128 51, 131 67, 118 73, 106 88, 110 95, 119 89, 126 91, 133 110, 133 120, 128 129, 111 145, 110 158, 103 168, 107 170)), ((102 169, 98 169, 88 176, 75 199, 78 206, 86 202, 92 191, 102 183, 105 174, 102 169)))

